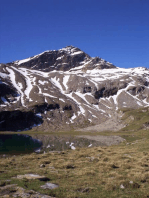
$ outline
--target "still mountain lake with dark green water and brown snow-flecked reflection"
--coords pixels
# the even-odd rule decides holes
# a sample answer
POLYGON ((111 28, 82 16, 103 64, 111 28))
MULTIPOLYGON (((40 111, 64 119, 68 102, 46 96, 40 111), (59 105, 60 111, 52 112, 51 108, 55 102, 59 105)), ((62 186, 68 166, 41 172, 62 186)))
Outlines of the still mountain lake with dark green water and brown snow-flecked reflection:
POLYGON ((76 148, 101 146, 101 143, 73 135, 0 134, 0 157, 30 153, 48 153, 76 148))

